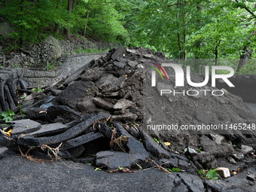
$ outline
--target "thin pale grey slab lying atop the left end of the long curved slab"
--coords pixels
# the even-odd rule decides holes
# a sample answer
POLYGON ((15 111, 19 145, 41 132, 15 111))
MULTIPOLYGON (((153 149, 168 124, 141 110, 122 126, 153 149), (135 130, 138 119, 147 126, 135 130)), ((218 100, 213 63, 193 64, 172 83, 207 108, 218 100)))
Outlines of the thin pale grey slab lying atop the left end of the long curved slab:
POLYGON ((40 130, 37 130, 35 132, 29 133, 29 135, 32 136, 46 136, 46 135, 52 135, 55 133, 66 131, 69 128, 69 126, 66 126, 62 123, 51 123, 51 124, 44 124, 41 126, 40 130))

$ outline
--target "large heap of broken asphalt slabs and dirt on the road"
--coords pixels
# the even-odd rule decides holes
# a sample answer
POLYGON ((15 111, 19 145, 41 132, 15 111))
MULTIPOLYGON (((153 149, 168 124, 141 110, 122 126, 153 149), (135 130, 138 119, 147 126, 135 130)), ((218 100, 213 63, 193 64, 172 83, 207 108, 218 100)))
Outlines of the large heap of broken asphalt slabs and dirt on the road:
MULTIPOLYGON (((253 124, 254 114, 242 99, 227 91, 223 96, 159 99, 157 94, 164 87, 160 78, 157 87, 145 89, 145 84, 151 83, 146 80, 152 62, 171 61, 150 49, 110 50, 107 56, 87 63, 43 93, 23 99, 14 110, 18 113, 23 108, 23 116, 2 125, 0 145, 33 160, 62 157, 93 162, 109 171, 157 166, 197 175, 199 169, 219 167, 221 177, 228 178, 250 169, 245 184, 249 189, 255 182, 253 131, 236 130, 225 135, 157 132, 145 130, 143 121, 253 124)), ((169 73, 173 82, 174 72, 169 73)), ((200 75, 193 74, 192 79, 202 82, 200 75)), ((185 84, 185 88, 191 87, 185 84)), ((201 89, 216 88, 206 85, 201 89)), ((212 181, 206 182, 212 185, 212 181)))

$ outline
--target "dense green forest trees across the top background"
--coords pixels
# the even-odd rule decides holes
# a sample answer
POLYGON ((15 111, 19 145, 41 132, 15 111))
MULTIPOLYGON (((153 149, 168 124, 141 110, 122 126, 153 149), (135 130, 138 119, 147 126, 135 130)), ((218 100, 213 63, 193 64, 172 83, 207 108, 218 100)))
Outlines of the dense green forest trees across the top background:
POLYGON ((254 0, 0 0, 15 32, 12 46, 48 35, 90 36, 150 47, 172 59, 238 59, 236 72, 255 73, 254 0))

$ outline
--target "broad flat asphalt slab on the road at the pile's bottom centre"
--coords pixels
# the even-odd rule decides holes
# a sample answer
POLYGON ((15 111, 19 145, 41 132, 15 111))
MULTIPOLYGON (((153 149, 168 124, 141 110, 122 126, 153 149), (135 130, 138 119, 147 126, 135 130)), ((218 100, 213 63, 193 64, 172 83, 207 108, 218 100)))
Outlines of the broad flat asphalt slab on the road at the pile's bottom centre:
POLYGON ((136 163, 143 163, 147 157, 144 154, 126 154, 117 151, 100 151, 96 154, 96 166, 107 166, 108 169, 119 167, 131 168, 136 163))

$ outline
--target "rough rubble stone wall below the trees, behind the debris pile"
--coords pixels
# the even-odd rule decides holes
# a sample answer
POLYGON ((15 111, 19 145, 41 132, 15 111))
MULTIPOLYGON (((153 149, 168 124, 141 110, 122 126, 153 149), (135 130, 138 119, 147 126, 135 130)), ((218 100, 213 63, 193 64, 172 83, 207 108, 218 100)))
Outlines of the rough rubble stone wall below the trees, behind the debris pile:
MULTIPOLYGON (((59 41, 53 36, 49 36, 41 44, 21 48, 20 53, 11 53, 5 58, 5 66, 14 68, 44 69, 47 62, 56 64, 62 58, 84 51, 85 49, 108 50, 119 47, 117 43, 107 43, 98 41, 87 41, 83 39, 72 38, 70 40, 59 41)), ((0 57, 0 65, 2 65, 0 57)))

